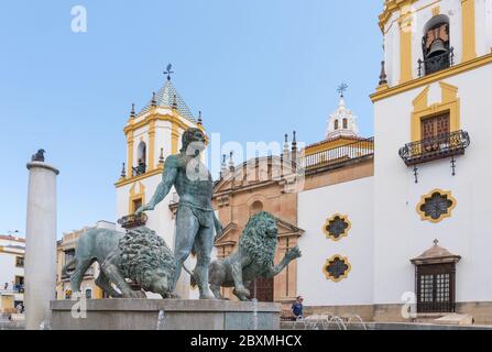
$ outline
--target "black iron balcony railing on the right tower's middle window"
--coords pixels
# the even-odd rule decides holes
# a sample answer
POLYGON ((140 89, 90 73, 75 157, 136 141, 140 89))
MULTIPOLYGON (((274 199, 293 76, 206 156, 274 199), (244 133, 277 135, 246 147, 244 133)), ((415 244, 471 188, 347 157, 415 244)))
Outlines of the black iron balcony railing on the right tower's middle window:
POLYGON ((469 145, 470 136, 468 132, 456 131, 408 143, 398 153, 407 166, 414 166, 439 158, 462 155, 469 145))

